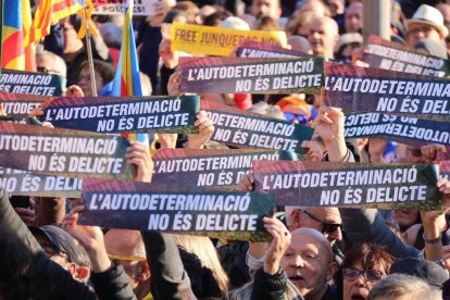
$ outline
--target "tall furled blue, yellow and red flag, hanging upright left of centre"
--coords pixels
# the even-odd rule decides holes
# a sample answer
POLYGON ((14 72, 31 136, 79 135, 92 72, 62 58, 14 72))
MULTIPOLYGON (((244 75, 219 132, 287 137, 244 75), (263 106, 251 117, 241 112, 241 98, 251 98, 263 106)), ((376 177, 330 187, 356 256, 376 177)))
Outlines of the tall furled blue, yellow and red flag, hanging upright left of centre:
MULTIPOLYGON (((132 18, 133 0, 128 0, 125 11, 121 57, 115 70, 112 96, 142 96, 132 18)), ((128 134, 125 137, 132 140, 148 141, 148 135, 146 134, 128 134)))

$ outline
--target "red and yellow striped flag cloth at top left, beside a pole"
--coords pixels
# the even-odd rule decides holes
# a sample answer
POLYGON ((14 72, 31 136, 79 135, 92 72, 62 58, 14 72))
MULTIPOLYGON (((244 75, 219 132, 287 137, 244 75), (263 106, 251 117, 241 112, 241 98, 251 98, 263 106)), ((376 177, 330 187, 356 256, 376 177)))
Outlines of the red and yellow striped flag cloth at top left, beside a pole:
POLYGON ((24 45, 36 43, 50 33, 50 25, 77 13, 84 7, 84 0, 42 0, 24 45))

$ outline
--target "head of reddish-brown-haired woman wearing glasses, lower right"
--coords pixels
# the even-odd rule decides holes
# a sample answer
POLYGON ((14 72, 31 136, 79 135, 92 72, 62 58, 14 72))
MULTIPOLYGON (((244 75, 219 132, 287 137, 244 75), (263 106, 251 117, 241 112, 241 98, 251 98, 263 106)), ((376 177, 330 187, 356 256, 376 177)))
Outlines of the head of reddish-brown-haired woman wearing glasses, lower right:
POLYGON ((371 289, 389 275, 391 257, 377 243, 361 243, 346 253, 335 282, 343 300, 365 300, 371 289))

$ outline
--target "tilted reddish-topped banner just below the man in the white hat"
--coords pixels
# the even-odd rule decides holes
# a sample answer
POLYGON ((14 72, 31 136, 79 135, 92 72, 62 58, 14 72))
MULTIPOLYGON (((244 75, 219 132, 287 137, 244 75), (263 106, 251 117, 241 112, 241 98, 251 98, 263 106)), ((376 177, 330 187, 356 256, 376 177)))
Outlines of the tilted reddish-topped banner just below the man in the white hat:
POLYGON ((354 54, 353 62, 372 68, 443 77, 449 75, 450 61, 413 50, 407 46, 370 36, 361 52, 354 54))

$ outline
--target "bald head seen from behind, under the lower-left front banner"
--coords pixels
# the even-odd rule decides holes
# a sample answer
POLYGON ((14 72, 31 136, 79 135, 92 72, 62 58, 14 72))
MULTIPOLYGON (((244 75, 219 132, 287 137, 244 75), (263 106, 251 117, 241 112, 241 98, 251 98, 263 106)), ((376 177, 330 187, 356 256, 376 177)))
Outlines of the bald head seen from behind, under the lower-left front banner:
POLYGON ((111 229, 104 235, 104 246, 110 255, 146 259, 142 237, 137 230, 111 229))

